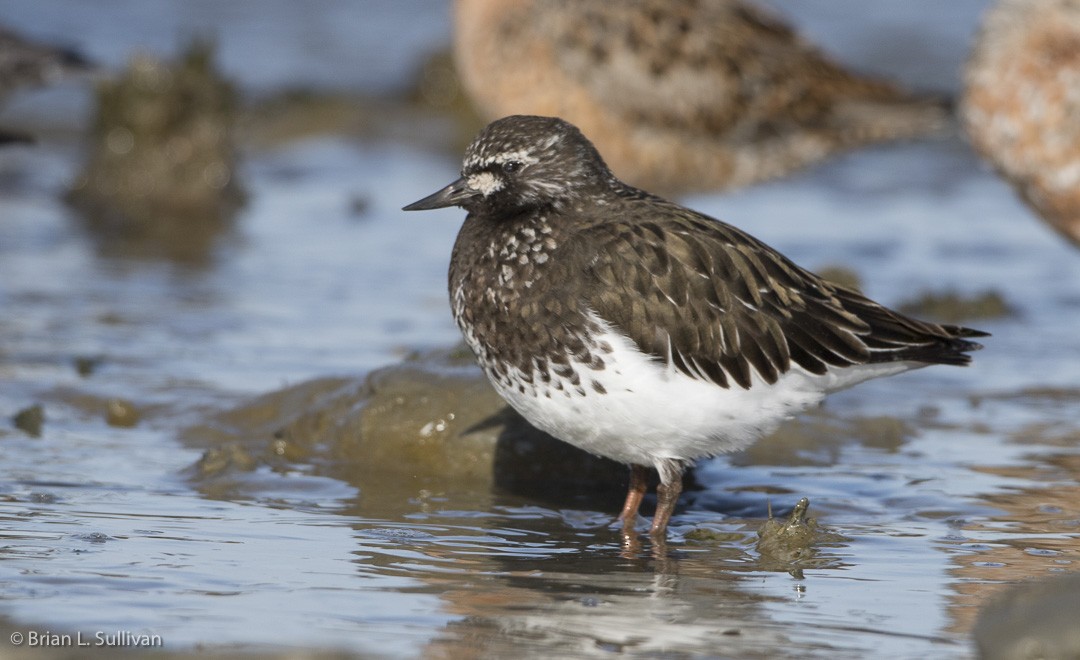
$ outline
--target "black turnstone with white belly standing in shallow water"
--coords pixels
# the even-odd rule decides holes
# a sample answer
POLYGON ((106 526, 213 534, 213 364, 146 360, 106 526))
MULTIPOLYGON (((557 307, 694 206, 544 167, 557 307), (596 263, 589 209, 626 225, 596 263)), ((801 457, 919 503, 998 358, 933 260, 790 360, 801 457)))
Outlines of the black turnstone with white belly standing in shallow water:
POLYGON ((985 333, 909 319, 739 229, 617 179, 573 125, 485 127, 461 178, 405 206, 469 212, 450 258, 454 318, 529 422, 631 466, 633 531, 649 468, 662 538, 694 460, 747 446, 828 392, 963 365, 985 333))

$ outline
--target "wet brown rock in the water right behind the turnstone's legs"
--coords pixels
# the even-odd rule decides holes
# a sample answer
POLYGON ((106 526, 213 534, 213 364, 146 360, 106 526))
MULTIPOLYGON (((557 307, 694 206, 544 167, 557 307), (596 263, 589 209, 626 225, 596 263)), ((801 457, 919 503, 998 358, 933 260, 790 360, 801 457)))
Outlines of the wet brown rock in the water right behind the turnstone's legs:
POLYGON ((202 482, 298 463, 364 487, 409 481, 567 500, 625 488, 626 469, 528 425, 471 355, 414 356, 367 378, 323 378, 259 396, 189 429, 202 482), (239 458, 238 458, 239 457, 239 458))

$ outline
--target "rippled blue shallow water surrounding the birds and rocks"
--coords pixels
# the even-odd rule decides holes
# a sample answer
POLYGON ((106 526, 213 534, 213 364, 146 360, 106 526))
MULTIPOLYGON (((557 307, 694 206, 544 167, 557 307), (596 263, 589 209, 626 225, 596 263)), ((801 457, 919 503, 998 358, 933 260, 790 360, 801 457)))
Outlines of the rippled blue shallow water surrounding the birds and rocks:
MULTIPOLYGON (((9 6, 11 23, 82 35, 107 64, 132 33, 166 48, 216 23, 226 68, 256 92, 341 84, 359 68, 348 84, 400 87, 446 35, 438 3, 421 21, 386 3, 374 22, 349 3, 310 16, 279 3, 265 30, 246 22, 254 5, 193 3, 125 14, 147 29, 119 32, 83 3, 9 6), (325 52, 311 45, 322 41, 325 52), (393 50, 357 67, 339 57, 354 41, 393 50), (280 62, 256 66, 268 42, 280 62)), ((964 40, 978 6, 956 3, 942 25, 913 5, 883 25, 964 40)), ((862 57, 866 41, 836 30, 821 38, 862 57)), ((954 70, 954 46, 916 64, 954 70)), ((9 112, 62 93, 85 103, 67 89, 9 112)), ((397 211, 447 183, 455 160, 345 137, 251 151, 237 229, 206 262, 178 265, 116 256, 58 201, 78 166, 69 140, 0 151, 0 418, 45 410, 40 437, 0 423, 0 616, 12 630, 156 633, 176 650, 964 657, 1002 583, 1076 570, 1080 254, 959 139, 686 200, 808 267, 853 268, 883 302, 991 288, 1018 312, 969 322, 994 334, 971 368, 866 383, 805 419, 798 442, 781 432, 702 464, 666 549, 626 552, 610 525, 618 500, 590 493, 346 482, 297 463, 204 495, 188 479, 200 450, 179 437, 210 410, 457 339, 445 270, 461 213, 397 211), (99 363, 80 376, 78 358, 99 363), (135 403, 137 426, 106 425, 114 398, 135 403), (831 534, 800 563, 770 563, 755 548, 767 508, 804 496, 831 534), (702 529, 713 538, 687 537, 702 529)))

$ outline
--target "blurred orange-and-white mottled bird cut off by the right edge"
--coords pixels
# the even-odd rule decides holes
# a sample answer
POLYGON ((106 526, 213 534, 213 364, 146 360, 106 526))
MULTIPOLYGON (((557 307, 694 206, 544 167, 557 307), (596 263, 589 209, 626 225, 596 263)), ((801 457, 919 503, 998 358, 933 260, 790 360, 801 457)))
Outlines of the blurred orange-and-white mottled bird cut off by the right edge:
POLYGON ((974 147, 1080 246, 1080 0, 998 2, 964 80, 974 147))

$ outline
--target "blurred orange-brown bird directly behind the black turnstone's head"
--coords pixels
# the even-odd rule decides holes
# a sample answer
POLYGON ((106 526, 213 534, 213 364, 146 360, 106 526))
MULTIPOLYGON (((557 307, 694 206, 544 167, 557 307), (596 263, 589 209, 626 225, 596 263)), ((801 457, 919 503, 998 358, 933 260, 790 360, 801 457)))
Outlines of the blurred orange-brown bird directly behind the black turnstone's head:
POLYGON ((457 0, 455 54, 487 119, 563 117, 620 178, 665 191, 781 176, 946 118, 746 0, 457 0))

